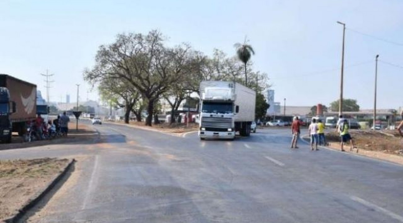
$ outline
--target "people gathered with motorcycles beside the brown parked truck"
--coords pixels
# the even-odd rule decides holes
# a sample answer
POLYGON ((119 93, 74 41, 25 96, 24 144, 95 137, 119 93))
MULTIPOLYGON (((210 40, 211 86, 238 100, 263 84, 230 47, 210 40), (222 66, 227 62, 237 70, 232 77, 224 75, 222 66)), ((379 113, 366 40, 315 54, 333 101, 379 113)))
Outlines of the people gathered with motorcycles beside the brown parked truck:
POLYGON ((57 116, 53 122, 52 120, 49 120, 47 123, 44 121, 44 118, 42 118, 41 114, 38 114, 35 120, 33 120, 29 126, 31 130, 35 131, 37 138, 44 139, 44 132, 48 132, 52 126, 52 123, 56 127, 56 132, 60 130, 60 132, 67 135, 69 132, 69 122, 70 118, 66 115, 66 112, 63 112, 62 116, 57 116))

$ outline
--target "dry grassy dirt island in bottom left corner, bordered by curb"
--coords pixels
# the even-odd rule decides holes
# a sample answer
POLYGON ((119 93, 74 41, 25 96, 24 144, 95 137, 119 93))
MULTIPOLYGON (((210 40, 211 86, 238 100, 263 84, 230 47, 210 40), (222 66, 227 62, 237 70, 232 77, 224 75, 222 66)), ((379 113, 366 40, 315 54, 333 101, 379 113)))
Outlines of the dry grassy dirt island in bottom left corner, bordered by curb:
POLYGON ((42 192, 68 163, 56 158, 0 161, 0 221, 42 192))

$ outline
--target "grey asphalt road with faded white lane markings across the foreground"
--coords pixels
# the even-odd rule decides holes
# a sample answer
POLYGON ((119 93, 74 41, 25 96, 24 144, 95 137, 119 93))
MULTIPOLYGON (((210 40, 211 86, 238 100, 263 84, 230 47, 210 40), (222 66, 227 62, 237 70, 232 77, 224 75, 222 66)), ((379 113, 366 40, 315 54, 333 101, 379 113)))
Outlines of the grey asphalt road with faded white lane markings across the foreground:
POLYGON ((200 141, 104 124, 100 141, 0 151, 78 157, 29 222, 403 222, 403 167, 308 145, 289 130, 200 141))

